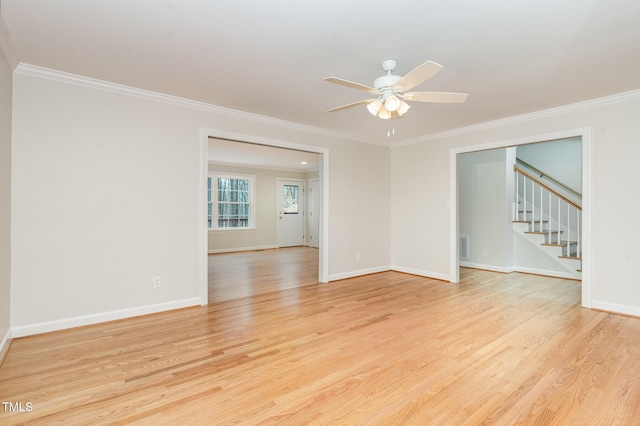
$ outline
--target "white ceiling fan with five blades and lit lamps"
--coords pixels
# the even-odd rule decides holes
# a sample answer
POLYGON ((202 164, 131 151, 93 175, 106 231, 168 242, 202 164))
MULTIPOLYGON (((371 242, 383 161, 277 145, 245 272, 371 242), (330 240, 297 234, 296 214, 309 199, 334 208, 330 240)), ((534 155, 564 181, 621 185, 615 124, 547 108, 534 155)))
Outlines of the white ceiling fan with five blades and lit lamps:
POLYGON ((338 77, 327 77, 325 81, 351 87, 352 89, 369 92, 378 95, 373 99, 365 99, 347 105, 328 109, 326 112, 340 111, 358 105, 367 105, 367 109, 372 115, 382 119, 400 118, 411 106, 405 101, 434 102, 434 103, 461 103, 469 96, 466 93, 454 92, 407 92, 417 85, 427 81, 444 67, 432 61, 427 61, 418 65, 404 76, 392 74, 398 62, 394 59, 387 59, 382 62, 382 69, 386 72, 382 77, 378 77, 373 82, 373 87, 366 86, 353 81, 344 80, 338 77))

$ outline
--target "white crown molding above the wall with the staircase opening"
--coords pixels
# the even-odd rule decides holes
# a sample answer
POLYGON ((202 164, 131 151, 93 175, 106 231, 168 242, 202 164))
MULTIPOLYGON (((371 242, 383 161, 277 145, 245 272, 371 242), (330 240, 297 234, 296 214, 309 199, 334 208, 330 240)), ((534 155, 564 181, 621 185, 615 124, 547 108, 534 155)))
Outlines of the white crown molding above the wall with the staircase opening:
POLYGON ((623 92, 615 95, 604 96, 602 98, 590 99, 587 101, 576 102, 573 104, 563 105, 555 108, 549 108, 541 111, 531 112, 527 114, 515 115, 513 117, 502 118, 500 120, 487 121, 485 123, 474 124, 472 126, 460 127, 453 130, 447 130, 440 133, 433 133, 430 135, 420 136, 411 139, 405 139, 392 144, 392 147, 400 147, 406 145, 415 145, 422 142, 429 142, 438 139, 450 138, 453 136, 460 136, 467 133, 478 132, 481 130, 495 129, 498 127, 508 126, 511 124, 523 123, 527 121, 537 120, 545 117, 553 117, 562 114, 567 114, 574 111, 581 111, 585 109, 591 109, 620 102, 632 101, 640 99, 640 90, 632 90, 629 92, 623 92))

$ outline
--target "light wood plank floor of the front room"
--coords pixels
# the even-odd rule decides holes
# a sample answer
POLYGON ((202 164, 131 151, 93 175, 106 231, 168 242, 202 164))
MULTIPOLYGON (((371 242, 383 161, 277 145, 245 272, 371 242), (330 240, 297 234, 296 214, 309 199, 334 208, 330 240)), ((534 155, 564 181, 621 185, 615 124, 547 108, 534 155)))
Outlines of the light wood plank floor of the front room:
POLYGON ((15 339, 0 399, 33 409, 0 407, 0 424, 638 424, 640 319, 580 308, 578 281, 461 276, 385 272, 15 339))

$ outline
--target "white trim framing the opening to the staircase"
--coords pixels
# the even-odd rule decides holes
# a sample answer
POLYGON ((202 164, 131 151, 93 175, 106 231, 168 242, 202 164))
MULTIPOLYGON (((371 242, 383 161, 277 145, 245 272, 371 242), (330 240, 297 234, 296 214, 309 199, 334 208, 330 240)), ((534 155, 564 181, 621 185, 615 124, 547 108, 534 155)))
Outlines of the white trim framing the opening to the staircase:
MULTIPOLYGON (((640 94, 640 91, 638 92, 640 94)), ((589 127, 563 130, 541 135, 506 139, 479 145, 452 148, 450 151, 450 235, 449 266, 451 282, 460 281, 458 259, 458 154, 484 151, 487 149, 508 148, 529 143, 552 141, 580 137, 582 139, 582 306, 591 308, 591 129, 589 127)))

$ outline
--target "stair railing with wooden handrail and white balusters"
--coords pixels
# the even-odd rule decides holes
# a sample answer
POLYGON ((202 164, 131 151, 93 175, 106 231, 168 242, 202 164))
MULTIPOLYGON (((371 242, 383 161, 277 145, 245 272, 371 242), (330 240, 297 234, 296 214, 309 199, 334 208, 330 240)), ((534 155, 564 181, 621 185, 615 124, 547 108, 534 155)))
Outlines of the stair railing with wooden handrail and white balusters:
POLYGON ((530 232, 545 235, 545 244, 566 247, 564 257, 581 258, 582 206, 576 200, 579 194, 562 194, 518 164, 514 164, 513 171, 513 220, 528 222, 530 232))

